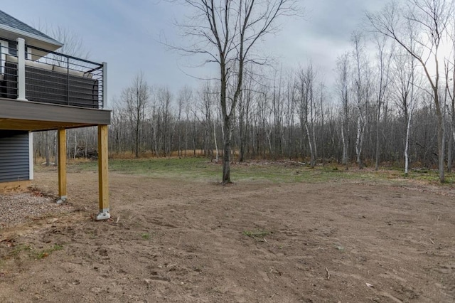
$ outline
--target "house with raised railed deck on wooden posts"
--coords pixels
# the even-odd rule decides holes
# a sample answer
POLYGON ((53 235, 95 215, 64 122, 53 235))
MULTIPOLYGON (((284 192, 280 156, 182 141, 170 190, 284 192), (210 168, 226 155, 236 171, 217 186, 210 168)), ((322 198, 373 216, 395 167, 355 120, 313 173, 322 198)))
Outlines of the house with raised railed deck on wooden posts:
POLYGON ((107 64, 58 53, 62 43, 0 11, 0 187, 33 179, 32 132, 58 131, 59 201, 67 198, 66 129, 97 126, 100 213, 109 218, 107 64))

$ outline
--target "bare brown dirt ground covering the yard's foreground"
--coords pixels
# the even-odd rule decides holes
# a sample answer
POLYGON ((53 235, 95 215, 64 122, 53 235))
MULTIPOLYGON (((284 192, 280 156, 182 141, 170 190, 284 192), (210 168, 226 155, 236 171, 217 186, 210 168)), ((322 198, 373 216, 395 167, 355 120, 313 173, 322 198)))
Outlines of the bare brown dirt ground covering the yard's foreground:
POLYGON ((0 302, 455 302, 453 186, 112 173, 100 222, 97 174, 68 182, 69 212, 0 229, 0 302))

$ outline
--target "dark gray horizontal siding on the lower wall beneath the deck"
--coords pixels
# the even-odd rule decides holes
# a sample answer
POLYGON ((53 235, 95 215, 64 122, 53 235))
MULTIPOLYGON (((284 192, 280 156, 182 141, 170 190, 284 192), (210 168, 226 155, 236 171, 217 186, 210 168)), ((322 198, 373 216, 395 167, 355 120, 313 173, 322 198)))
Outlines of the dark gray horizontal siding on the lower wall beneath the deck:
POLYGON ((28 132, 0 130, 0 182, 30 179, 28 132))

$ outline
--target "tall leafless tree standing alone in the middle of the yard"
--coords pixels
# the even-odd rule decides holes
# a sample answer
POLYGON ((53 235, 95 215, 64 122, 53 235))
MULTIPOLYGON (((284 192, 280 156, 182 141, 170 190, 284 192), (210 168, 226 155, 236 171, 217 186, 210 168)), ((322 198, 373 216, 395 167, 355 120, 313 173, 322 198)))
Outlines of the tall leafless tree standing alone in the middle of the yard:
POLYGON ((293 0, 182 0, 195 13, 189 24, 181 25, 187 36, 196 39, 188 53, 205 55, 220 68, 220 107, 223 118, 223 184, 231 182, 230 154, 232 123, 242 92, 248 64, 264 63, 253 53, 255 44, 277 30, 275 21, 294 11, 293 0), (232 95, 228 94, 232 91, 232 95))

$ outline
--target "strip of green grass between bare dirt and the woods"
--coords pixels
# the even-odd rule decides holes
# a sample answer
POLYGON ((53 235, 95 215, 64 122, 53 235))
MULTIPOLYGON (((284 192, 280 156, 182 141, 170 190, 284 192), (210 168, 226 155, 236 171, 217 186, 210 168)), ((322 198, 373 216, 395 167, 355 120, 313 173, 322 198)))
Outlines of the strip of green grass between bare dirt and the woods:
MULTIPOLYGON (((97 161, 69 161, 69 171, 97 171, 97 161)), ((221 181, 221 162, 211 162, 207 158, 153 158, 153 159, 109 159, 109 171, 121 174, 135 174, 159 179, 182 179, 191 181, 221 181)), ((372 181, 390 180, 405 183, 418 180, 439 184, 437 171, 412 170, 404 177, 403 170, 397 167, 380 169, 357 169, 350 166, 327 164, 310 168, 291 164, 289 161, 249 161, 231 165, 233 182, 272 182, 272 183, 328 183, 333 181, 372 181)), ((396 183, 395 183, 396 184, 396 183)), ((455 184, 455 174, 446 173, 446 184, 455 184)))

